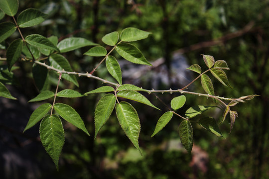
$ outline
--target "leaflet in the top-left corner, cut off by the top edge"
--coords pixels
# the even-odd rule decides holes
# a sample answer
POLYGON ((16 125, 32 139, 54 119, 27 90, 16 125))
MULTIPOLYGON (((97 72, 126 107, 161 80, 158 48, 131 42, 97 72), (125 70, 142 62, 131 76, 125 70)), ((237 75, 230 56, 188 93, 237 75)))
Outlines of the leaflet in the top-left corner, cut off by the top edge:
POLYGON ((18 0, 0 0, 0 9, 9 16, 14 16, 18 11, 18 0))

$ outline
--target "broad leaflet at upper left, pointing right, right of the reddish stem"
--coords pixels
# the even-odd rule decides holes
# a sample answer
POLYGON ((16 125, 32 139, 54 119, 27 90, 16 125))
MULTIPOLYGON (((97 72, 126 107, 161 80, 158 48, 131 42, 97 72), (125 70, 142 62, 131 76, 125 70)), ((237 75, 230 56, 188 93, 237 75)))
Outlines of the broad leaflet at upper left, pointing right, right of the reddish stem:
POLYGON ((28 8, 23 10, 18 18, 17 23, 19 27, 31 27, 44 21, 47 15, 34 8, 28 8))

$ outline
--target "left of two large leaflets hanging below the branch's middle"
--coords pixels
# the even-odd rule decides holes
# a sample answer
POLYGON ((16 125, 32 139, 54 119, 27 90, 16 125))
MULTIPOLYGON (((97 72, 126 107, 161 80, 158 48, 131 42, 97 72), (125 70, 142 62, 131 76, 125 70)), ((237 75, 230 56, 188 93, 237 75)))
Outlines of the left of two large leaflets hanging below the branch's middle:
POLYGON ((116 96, 114 94, 106 94, 96 105, 94 112, 94 122, 95 122, 95 135, 96 138, 98 132, 103 127, 103 125, 108 121, 114 107, 116 104, 116 96))

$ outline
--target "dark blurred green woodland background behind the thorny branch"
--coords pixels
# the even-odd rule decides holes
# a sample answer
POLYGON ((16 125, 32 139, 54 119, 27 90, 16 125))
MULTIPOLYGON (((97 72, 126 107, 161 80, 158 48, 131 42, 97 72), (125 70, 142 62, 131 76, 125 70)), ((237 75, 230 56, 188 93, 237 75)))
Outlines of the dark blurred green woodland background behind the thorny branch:
MULTIPOLYGON (((188 64, 199 64, 205 70, 200 54, 212 55, 215 60, 221 59, 228 63, 231 70, 227 72, 227 76, 233 87, 226 88, 212 78, 216 95, 260 96, 234 107, 239 118, 231 134, 229 117, 221 125, 223 138, 218 138, 193 123, 192 155, 188 155, 180 144, 179 118, 173 117, 161 132, 150 138, 162 113, 134 102, 132 104, 141 121, 139 144, 143 156, 139 155, 125 136, 115 115, 111 116, 101 129, 96 140, 64 123, 66 138, 60 156, 59 172, 38 142, 38 127, 28 133, 21 133, 30 112, 25 116, 20 115, 22 119, 13 119, 14 123, 21 123, 22 127, 18 128, 14 128, 14 123, 5 123, 2 118, 0 146, 4 150, 0 159, 1 178, 269 178, 269 0, 19 0, 19 4, 18 12, 33 7, 48 14, 47 19, 40 25, 22 29, 24 36, 32 33, 47 37, 56 35, 59 40, 71 36, 84 37, 104 45, 101 38, 105 34, 121 31, 126 27, 136 27, 152 32, 147 39, 134 43, 148 61, 153 62, 164 57, 165 65, 170 69, 172 54, 177 52, 186 57, 188 64), (6 141, 5 135, 11 137, 6 141), (21 145, 22 143, 25 145, 21 145), (18 156, 28 152, 29 156, 34 157, 32 160, 21 159, 23 165, 16 166, 9 160, 10 155, 4 157, 3 154, 8 153, 7 151, 17 152, 18 156), (29 169, 27 165, 35 167, 29 169)), ((4 16, 2 21, 12 21, 12 18, 4 16)), ((19 38, 16 33, 5 43, 8 44, 15 38, 19 38)), ((2 48, 4 45, 2 44, 2 48)), ((90 72, 100 62, 100 58, 83 56, 88 49, 89 47, 85 47, 65 54, 74 71, 90 72)), ((0 50, 0 55, 4 55, 4 50, 0 50)), ((28 101, 38 94, 31 78, 31 64, 17 65, 21 68, 14 71, 16 88, 10 89, 11 94, 14 91, 17 93, 15 97, 23 96, 28 101)), ((105 66, 101 66, 95 75, 113 80, 105 66)), ((51 83, 53 91, 55 85, 51 83)), ((79 84, 80 88, 76 88, 64 82, 61 88, 87 92, 103 85, 86 78, 79 78, 79 84)), ((191 89, 203 92, 199 82, 194 83, 191 89)), ((89 95, 84 98, 58 100, 72 105, 84 119, 91 136, 94 136, 93 114, 101 96, 89 95)), ((157 107, 166 110, 154 99, 155 96, 146 96, 151 98, 157 107)), ((169 100, 176 94, 159 96, 169 104, 169 100)), ((184 114, 192 105, 215 105, 213 100, 204 97, 186 97, 186 106, 179 113, 184 114)), ((3 98, 0 98, 0 101, 2 105, 6 102, 3 98)), ((29 111, 36 107, 29 103, 23 104, 29 111)), ((14 112, 16 111, 2 108, 0 114, 4 117, 14 112)), ((206 114, 217 120, 222 117, 221 111, 218 110, 210 110, 206 114)), ((18 157, 13 160, 19 159, 18 157)))

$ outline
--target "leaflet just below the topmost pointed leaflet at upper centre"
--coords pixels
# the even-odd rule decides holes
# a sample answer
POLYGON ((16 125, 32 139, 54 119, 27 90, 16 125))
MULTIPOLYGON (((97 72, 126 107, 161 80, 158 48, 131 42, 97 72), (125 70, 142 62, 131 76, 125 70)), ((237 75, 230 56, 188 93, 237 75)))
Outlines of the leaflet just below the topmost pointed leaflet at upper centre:
POLYGON ((141 65, 149 65, 152 66, 144 57, 144 55, 140 52, 138 48, 129 43, 120 43, 116 46, 116 51, 126 60, 141 64, 141 65))

